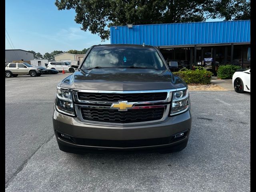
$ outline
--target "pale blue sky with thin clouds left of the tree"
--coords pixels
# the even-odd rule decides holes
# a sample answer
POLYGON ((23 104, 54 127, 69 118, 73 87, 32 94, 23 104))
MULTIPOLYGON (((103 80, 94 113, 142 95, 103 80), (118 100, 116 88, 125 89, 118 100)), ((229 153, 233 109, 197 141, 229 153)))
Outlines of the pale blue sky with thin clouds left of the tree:
MULTIPOLYGON (((5 28, 16 49, 45 54, 54 50, 82 50, 102 42, 97 34, 80 30, 74 10, 58 10, 54 0, 6 0, 5 28)), ((207 20, 219 21, 219 20, 207 20)), ((6 32, 5 32, 6 33, 6 32)), ((10 42, 10 39, 6 36, 10 42)), ((12 49, 5 38, 5 48, 12 49)))

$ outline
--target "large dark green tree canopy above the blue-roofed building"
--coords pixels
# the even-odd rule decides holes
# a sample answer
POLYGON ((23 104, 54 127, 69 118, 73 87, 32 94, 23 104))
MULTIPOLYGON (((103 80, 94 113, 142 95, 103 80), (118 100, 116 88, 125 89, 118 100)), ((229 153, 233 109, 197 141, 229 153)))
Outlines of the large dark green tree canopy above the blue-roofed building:
POLYGON ((110 26, 250 19, 250 0, 56 0, 55 5, 74 9, 81 29, 102 40, 109 39, 110 26))

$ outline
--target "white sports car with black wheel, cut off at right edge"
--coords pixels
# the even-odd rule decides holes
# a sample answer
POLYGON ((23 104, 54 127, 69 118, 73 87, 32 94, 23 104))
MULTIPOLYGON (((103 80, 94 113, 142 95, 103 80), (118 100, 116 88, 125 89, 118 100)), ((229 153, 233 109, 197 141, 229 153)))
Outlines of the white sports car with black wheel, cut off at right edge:
POLYGON ((233 74, 232 83, 237 93, 251 92, 251 70, 236 71, 233 74))

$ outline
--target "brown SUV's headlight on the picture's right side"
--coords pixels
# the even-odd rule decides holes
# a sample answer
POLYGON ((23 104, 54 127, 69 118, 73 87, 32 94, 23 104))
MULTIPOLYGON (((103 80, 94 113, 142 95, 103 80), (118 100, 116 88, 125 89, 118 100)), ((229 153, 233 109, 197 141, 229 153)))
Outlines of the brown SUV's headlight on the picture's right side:
POLYGON ((170 115, 180 114, 189 108, 189 93, 188 89, 175 91, 172 93, 172 106, 170 115))

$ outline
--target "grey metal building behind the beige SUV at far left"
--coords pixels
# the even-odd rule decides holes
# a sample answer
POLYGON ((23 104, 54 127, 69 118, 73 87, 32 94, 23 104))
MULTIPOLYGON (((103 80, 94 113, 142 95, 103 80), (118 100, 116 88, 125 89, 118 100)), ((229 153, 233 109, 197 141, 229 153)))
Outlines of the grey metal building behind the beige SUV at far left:
POLYGON ((34 59, 34 55, 28 51, 22 49, 6 49, 5 50, 5 62, 13 61, 30 61, 34 59))

